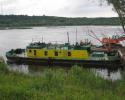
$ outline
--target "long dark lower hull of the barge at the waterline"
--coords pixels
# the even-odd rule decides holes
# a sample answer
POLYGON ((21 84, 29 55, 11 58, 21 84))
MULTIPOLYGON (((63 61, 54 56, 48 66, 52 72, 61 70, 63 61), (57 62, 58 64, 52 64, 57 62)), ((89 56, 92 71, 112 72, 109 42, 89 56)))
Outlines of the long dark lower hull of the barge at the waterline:
POLYGON ((47 66, 73 66, 119 68, 122 67, 120 60, 76 60, 76 59, 54 59, 54 58, 30 58, 30 57, 7 57, 9 63, 33 64, 47 66))

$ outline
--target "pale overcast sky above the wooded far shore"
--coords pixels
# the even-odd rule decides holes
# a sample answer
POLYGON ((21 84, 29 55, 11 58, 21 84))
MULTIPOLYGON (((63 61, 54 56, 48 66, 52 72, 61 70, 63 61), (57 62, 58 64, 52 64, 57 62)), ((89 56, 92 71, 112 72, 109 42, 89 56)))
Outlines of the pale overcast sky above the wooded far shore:
POLYGON ((1 14, 63 17, 115 17, 112 7, 99 0, 0 0, 1 14))

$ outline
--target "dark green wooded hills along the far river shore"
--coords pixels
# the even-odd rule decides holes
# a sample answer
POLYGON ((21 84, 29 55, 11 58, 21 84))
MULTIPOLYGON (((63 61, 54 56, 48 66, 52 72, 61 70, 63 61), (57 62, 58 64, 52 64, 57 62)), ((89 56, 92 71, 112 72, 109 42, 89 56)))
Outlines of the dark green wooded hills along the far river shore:
POLYGON ((35 26, 75 26, 75 25, 120 25, 118 17, 86 18, 86 17, 56 17, 0 15, 0 29, 29 29, 35 26))

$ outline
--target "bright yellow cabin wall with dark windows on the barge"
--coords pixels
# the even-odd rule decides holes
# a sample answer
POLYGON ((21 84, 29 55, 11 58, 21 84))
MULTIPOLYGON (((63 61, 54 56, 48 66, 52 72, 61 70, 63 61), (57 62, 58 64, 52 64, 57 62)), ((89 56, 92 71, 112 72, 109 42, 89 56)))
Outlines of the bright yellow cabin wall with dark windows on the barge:
POLYGON ((69 59, 87 59, 89 57, 87 50, 63 50, 63 49, 33 49, 27 48, 28 57, 34 58, 69 58, 69 59))

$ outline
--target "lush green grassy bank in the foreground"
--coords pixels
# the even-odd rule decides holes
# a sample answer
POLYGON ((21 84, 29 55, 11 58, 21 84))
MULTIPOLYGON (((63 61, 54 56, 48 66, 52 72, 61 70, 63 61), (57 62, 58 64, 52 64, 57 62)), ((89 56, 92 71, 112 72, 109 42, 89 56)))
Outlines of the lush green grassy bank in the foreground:
POLYGON ((9 72, 0 64, 0 100, 124 100, 125 80, 103 80, 72 67, 45 69, 39 76, 9 72))

